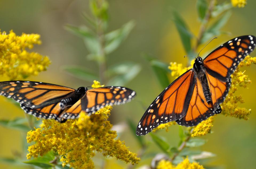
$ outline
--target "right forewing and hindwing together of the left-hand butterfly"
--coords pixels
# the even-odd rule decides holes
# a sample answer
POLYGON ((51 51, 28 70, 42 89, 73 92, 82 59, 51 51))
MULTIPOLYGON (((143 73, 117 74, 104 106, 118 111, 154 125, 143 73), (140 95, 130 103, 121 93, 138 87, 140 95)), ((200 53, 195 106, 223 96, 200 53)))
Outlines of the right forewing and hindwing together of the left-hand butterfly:
POLYGON ((129 102, 134 96, 135 92, 133 90, 120 86, 90 89, 84 97, 66 110, 60 118, 75 119, 82 110, 91 114, 108 105, 120 105, 129 102))

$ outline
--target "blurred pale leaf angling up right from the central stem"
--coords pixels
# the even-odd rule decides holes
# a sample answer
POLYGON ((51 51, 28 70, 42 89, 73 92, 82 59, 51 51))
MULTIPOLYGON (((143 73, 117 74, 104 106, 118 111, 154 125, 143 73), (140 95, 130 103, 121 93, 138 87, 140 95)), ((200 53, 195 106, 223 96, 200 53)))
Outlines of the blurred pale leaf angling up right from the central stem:
POLYGON ((124 24, 120 29, 109 32, 105 35, 105 52, 106 54, 110 54, 114 50, 116 50, 120 44, 127 38, 131 30, 134 28, 135 22, 129 21, 124 24))

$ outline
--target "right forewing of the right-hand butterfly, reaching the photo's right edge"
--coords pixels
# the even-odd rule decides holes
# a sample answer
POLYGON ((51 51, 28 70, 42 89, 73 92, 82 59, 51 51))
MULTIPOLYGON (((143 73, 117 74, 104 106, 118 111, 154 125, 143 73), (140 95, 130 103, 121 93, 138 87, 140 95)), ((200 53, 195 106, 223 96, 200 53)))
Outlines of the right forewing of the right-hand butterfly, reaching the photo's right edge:
POLYGON ((252 35, 231 39, 203 60, 206 71, 221 81, 229 80, 238 64, 255 49, 255 46, 256 37, 252 35))

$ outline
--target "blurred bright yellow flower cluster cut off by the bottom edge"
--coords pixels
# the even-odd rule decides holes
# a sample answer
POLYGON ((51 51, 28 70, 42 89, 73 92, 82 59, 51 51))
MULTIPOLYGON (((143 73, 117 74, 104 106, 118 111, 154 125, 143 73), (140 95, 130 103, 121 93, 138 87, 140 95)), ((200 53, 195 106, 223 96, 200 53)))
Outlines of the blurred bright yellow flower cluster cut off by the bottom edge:
POLYGON ((161 160, 157 165, 157 169, 204 169, 202 165, 197 162, 189 162, 189 159, 185 158, 176 167, 170 161, 161 160))

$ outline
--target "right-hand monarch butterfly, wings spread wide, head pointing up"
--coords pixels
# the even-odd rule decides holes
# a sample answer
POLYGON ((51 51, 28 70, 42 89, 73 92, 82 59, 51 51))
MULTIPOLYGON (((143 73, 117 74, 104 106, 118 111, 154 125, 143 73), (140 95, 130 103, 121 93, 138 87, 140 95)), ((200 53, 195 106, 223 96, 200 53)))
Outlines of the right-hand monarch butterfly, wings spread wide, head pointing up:
POLYGON ((195 59, 193 68, 173 81, 151 103, 137 126, 138 136, 146 135, 161 123, 176 121, 194 126, 214 114, 230 88, 230 75, 255 48, 252 35, 236 37, 212 51, 205 59, 195 59))

